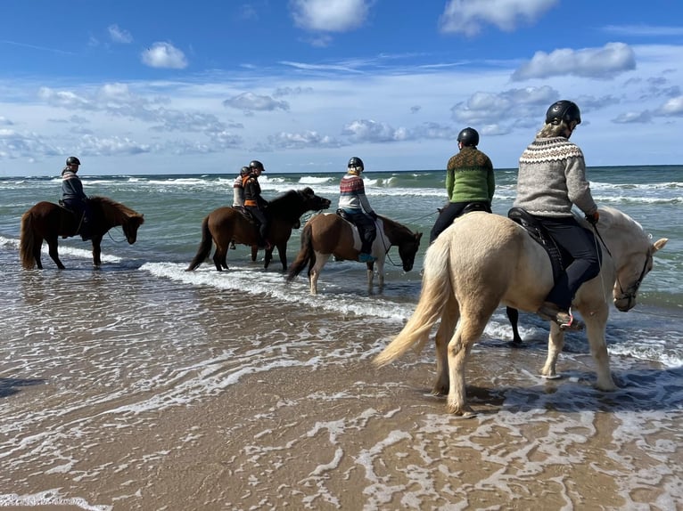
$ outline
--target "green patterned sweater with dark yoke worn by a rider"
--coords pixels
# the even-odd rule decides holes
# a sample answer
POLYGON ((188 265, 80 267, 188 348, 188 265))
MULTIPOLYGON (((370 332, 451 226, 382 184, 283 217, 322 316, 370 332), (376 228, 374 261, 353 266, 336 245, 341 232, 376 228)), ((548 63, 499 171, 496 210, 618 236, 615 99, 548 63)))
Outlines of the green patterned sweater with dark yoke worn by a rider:
POLYGON ((446 191, 450 202, 493 200, 493 164, 481 150, 465 146, 448 160, 446 191))

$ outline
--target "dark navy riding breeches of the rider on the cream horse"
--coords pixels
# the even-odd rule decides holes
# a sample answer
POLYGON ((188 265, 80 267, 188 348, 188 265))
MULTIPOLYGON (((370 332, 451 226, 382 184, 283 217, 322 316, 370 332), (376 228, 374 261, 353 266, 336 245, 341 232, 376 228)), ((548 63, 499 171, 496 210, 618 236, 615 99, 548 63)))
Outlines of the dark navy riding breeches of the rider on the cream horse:
POLYGON ((581 227, 575 218, 537 218, 550 232, 557 246, 572 259, 546 298, 548 302, 568 311, 581 284, 597 277, 600 272, 602 254, 597 248, 595 236, 581 227))

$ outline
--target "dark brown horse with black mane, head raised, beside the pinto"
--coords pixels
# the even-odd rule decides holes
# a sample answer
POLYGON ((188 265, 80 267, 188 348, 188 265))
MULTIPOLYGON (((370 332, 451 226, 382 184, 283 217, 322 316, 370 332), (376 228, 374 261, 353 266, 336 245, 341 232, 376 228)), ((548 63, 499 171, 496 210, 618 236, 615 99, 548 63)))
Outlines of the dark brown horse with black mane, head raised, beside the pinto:
MULTIPOLYGON (((330 199, 317 196, 309 187, 303 190, 287 191, 283 195, 268 202, 267 215, 270 216, 268 227, 268 239, 277 247, 283 272, 287 269, 287 241, 292 236, 294 225, 300 224, 300 216, 307 211, 320 211, 330 207, 330 199)), ((253 247, 259 245, 258 227, 249 217, 235 207, 218 207, 204 217, 202 221, 202 241, 197 254, 185 272, 192 272, 209 256, 212 244, 216 244, 213 254, 213 262, 216 270, 221 272, 227 267, 227 250, 230 241, 252 247, 252 260, 256 250, 253 247)), ((273 248, 266 250, 264 268, 267 269, 273 258, 273 248)))

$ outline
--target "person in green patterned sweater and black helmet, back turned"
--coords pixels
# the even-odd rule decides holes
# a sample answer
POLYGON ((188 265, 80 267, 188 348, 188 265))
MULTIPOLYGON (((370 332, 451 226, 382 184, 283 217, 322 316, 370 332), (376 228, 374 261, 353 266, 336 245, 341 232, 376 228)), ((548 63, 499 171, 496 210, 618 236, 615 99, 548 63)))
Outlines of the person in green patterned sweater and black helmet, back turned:
POLYGON ((466 127, 457 135, 459 152, 448 159, 446 166, 448 206, 440 210, 429 236, 430 244, 458 216, 465 213, 466 207, 491 211, 491 200, 496 188, 493 164, 486 154, 477 149, 478 144, 479 134, 471 127, 466 127))

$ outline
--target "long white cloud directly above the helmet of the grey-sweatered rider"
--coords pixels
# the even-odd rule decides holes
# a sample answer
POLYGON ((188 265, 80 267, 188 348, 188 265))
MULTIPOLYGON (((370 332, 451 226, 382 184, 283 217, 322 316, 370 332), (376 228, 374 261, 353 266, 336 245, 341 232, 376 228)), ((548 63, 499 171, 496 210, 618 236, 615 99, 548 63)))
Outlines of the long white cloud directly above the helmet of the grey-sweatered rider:
POLYGON ((607 43, 602 48, 564 48, 552 53, 537 52, 531 61, 514 71, 512 79, 518 81, 570 75, 613 78, 632 69, 636 69, 636 55, 630 46, 607 43))

